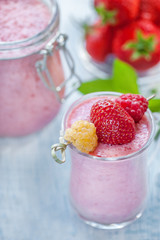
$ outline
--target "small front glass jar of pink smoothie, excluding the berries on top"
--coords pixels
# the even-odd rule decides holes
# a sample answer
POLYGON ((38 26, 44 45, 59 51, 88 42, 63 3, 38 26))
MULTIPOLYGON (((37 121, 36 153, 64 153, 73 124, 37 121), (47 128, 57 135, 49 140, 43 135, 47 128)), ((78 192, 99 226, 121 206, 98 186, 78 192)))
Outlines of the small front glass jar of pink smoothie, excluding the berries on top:
MULTIPOLYGON (((115 101, 118 94, 101 92, 82 97, 68 110, 64 128, 70 128, 77 120, 91 122, 93 104, 106 97, 115 101)), ((147 149, 153 138, 153 126, 147 110, 135 123, 135 137, 129 143, 98 142, 89 154, 69 145, 71 202, 85 222, 112 229, 124 227, 141 216, 147 199, 147 149)))

